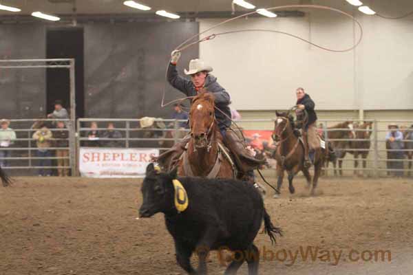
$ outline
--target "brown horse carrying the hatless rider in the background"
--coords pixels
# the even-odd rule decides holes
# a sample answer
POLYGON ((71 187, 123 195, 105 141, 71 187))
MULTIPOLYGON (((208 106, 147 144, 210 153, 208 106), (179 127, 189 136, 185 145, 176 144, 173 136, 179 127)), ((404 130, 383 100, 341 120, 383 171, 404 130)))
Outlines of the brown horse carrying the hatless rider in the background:
MULTIPOLYGON (((284 179, 284 170, 288 173, 288 190, 293 194, 295 188, 293 186, 293 178, 299 171, 304 173, 307 179, 308 188, 311 186, 311 175, 308 172, 308 168, 304 167, 304 145, 300 142, 299 138, 295 135, 293 126, 287 113, 278 113, 275 119, 275 126, 273 136, 278 138, 277 144, 277 188, 281 190, 282 180, 284 179)), ((315 188, 321 168, 324 164, 325 152, 321 148, 315 152, 314 159, 314 177, 313 188, 311 189, 311 195, 315 194, 315 188)), ((278 197, 277 194, 274 195, 278 197)))

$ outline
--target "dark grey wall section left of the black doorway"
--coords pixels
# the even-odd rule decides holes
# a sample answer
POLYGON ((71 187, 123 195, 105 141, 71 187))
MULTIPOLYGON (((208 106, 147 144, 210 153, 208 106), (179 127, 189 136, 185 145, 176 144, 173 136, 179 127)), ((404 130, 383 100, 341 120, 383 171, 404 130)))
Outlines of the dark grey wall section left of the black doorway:
MULTIPOLYGON (((0 25, 0 58, 45 58, 44 25, 0 25)), ((0 118, 45 113, 45 69, 0 69, 0 118)))

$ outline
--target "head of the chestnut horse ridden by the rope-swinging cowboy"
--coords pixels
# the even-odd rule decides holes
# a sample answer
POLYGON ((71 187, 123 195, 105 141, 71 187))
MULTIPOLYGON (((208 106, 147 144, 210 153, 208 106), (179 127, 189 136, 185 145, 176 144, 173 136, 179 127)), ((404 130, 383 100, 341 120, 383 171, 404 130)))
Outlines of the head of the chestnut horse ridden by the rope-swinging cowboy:
POLYGON ((202 93, 193 98, 189 111, 191 137, 197 148, 209 145, 208 137, 213 132, 215 122, 215 103, 213 94, 202 93))

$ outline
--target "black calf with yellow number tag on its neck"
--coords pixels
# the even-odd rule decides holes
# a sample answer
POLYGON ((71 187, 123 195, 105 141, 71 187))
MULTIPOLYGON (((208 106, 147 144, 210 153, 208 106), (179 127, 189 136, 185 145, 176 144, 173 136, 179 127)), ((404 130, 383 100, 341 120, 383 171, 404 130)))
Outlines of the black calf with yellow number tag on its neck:
POLYGON ((139 214, 140 217, 165 214, 178 264, 189 274, 207 274, 209 251, 229 248, 244 255, 237 255, 225 274, 236 274, 244 261, 248 263, 248 274, 257 274, 260 255, 253 241, 262 221, 272 243, 275 234, 281 235, 281 230, 271 223, 260 193, 251 184, 235 179, 180 177, 182 186, 178 187, 174 179, 177 179, 176 170, 160 173, 149 164, 142 184, 139 214), (178 190, 181 187, 185 191, 178 190), (189 261, 193 252, 199 257, 198 271, 189 261))

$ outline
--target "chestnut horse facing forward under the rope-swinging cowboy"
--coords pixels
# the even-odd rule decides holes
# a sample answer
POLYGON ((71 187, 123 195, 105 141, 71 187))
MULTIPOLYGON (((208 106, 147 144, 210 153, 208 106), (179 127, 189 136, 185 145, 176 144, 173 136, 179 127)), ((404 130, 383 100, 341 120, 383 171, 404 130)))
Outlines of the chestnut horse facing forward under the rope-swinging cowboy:
POLYGON ((235 178, 235 168, 226 157, 228 153, 215 120, 213 94, 202 93, 193 98, 189 125, 191 139, 178 163, 178 175, 235 178))

